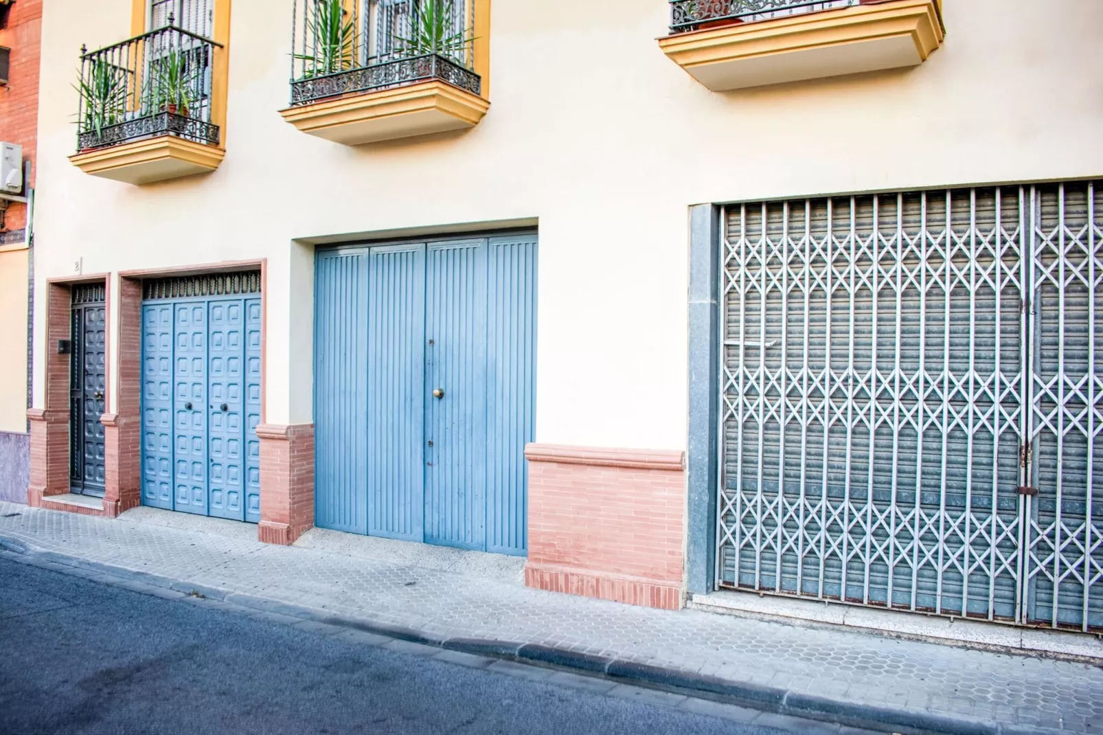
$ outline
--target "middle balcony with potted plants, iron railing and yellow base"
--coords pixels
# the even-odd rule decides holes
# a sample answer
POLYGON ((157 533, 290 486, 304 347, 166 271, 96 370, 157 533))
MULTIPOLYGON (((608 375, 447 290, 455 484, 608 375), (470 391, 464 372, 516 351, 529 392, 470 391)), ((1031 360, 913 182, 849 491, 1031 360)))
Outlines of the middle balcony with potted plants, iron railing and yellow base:
POLYGON ((479 0, 297 0, 283 119, 358 146, 474 127, 479 0))

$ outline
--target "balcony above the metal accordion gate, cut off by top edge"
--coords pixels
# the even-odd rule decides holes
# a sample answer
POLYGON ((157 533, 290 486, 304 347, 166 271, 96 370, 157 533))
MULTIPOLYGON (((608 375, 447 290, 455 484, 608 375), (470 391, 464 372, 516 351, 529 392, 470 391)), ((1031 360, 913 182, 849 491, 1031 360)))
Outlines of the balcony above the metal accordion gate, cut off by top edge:
POLYGON ((671 0, 658 44, 714 92, 918 66, 942 0, 671 0))

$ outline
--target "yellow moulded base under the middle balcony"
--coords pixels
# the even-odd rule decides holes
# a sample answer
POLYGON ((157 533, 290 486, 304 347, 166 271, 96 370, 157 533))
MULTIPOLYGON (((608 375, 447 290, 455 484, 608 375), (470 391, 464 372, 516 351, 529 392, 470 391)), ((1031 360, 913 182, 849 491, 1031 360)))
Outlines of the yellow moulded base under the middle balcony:
POLYGON ((280 110, 299 130, 346 146, 473 128, 490 103, 445 82, 424 82, 280 110))

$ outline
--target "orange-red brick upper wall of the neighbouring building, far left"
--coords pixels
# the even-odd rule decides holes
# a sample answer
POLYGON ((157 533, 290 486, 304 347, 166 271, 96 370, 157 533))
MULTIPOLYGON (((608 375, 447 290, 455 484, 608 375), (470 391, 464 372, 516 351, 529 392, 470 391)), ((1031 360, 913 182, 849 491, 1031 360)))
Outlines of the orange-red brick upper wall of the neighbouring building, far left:
MULTIPOLYGON (((0 86, 0 140, 23 147, 23 159, 34 163, 39 127, 39 60, 42 38, 42 0, 15 0, 0 29, 0 46, 11 49, 7 86, 0 86)), ((32 166, 31 183, 34 174, 32 166)), ((8 207, 4 228, 26 225, 26 207, 8 207)))

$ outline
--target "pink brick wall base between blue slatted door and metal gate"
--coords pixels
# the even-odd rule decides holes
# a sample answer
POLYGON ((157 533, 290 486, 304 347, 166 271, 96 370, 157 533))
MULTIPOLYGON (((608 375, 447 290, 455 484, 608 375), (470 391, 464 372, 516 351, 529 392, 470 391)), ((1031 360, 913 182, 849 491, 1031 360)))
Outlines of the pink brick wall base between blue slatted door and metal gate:
POLYGON ((683 452, 531 444, 525 457, 527 586, 682 607, 683 452))

